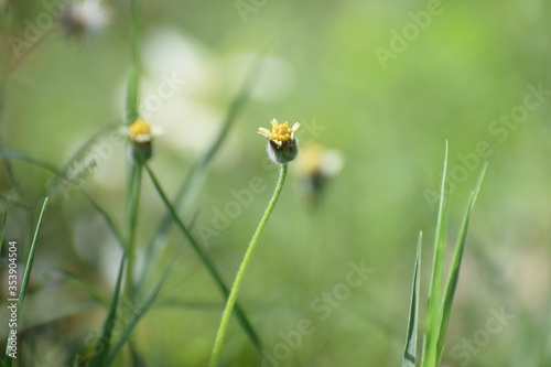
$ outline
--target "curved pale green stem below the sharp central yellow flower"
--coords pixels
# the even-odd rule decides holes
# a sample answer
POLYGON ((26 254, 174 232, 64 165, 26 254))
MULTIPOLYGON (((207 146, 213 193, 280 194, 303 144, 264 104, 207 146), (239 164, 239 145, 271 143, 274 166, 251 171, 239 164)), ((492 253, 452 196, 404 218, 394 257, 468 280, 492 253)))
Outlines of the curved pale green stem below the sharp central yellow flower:
POLYGON ((245 252, 245 257, 241 261, 241 265, 239 266, 239 270, 237 271, 234 285, 231 287, 231 292, 229 293, 228 301, 226 302, 226 307, 224 309, 224 312, 222 314, 222 321, 218 327, 218 333, 216 334, 216 339, 213 347, 213 354, 210 356, 209 367, 216 367, 218 365, 218 359, 220 357, 220 352, 222 352, 222 345, 224 343, 224 337, 226 336, 226 331, 229 324, 229 319, 231 316, 231 311, 234 310, 234 305, 237 301, 237 295, 239 294, 239 289, 241 288, 242 281, 245 279, 245 273, 247 272, 247 268, 249 267, 250 260, 252 259, 252 253, 257 248, 258 240, 260 239, 260 236, 264 230, 268 219, 270 219, 270 215, 272 214, 273 208, 278 203, 278 198, 281 194, 281 191, 283 190, 283 184, 285 183, 288 168, 289 168, 288 163, 281 164, 280 175, 278 183, 276 185, 276 191, 273 192, 272 198, 270 199, 270 203, 266 208, 264 215, 262 216, 260 223, 258 224, 257 230, 255 231, 255 235, 250 240, 249 248, 247 249, 247 252, 245 252))

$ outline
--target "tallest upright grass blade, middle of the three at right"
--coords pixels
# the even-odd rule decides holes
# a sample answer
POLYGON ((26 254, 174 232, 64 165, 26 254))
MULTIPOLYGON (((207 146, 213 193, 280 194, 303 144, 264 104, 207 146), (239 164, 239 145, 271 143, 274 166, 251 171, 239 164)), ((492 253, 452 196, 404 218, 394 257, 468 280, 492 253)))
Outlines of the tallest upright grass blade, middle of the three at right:
POLYGON ((447 141, 445 144, 444 166, 440 186, 440 204, 434 235, 434 253, 432 263, 431 283, 429 288, 429 303, 426 307, 426 326, 423 341, 423 367, 436 366, 436 347, 440 332, 440 315, 442 310, 442 287, 444 280, 445 246, 447 237, 449 192, 447 184, 447 141))

